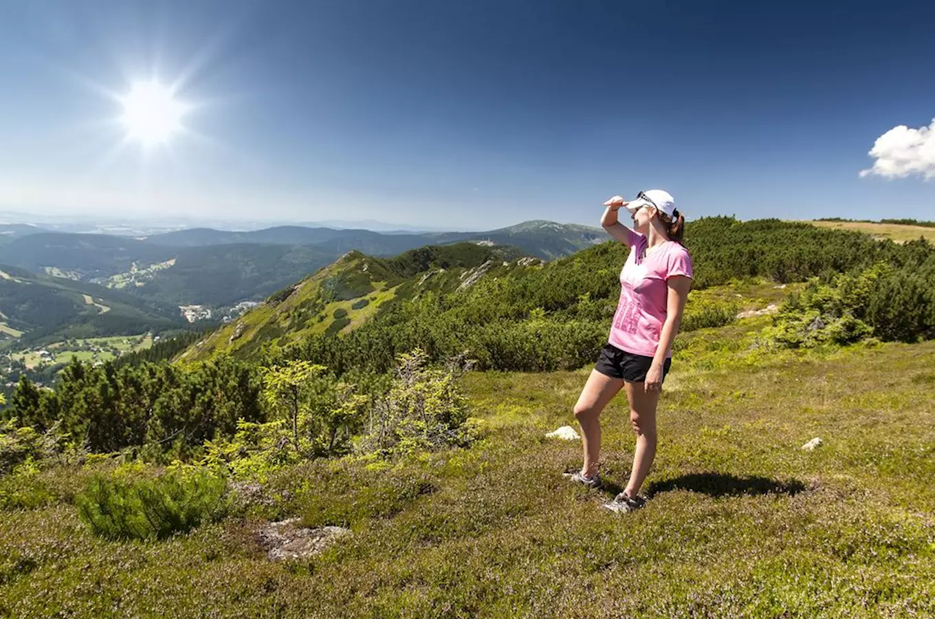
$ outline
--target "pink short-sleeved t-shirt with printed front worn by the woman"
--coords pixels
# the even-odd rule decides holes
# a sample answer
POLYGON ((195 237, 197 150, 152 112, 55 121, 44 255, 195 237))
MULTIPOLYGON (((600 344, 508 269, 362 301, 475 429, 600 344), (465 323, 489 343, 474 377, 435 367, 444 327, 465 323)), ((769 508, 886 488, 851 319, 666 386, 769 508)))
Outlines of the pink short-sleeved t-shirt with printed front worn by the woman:
POLYGON ((668 313, 666 280, 673 275, 692 277, 692 258, 681 243, 671 240, 644 255, 646 237, 629 233, 630 255, 620 272, 620 302, 608 341, 627 353, 652 357, 668 313))

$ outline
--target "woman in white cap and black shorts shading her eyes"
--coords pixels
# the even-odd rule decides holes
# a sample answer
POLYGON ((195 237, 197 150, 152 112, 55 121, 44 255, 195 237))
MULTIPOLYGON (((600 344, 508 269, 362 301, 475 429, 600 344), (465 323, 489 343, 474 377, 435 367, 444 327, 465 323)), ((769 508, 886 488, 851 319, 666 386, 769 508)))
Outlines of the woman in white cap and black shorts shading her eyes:
POLYGON ((629 245, 630 254, 620 273, 620 302, 611 335, 575 404, 575 417, 582 426, 584 466, 567 475, 573 482, 600 486, 598 417, 613 396, 626 388, 630 424, 637 435, 636 453, 626 489, 605 507, 633 511, 645 502, 637 493, 655 456, 655 409, 691 288, 692 259, 682 245, 684 218, 667 192, 641 192, 631 202, 615 195, 604 206, 601 225, 611 237, 629 245), (633 229, 617 221, 621 208, 629 211, 633 229))

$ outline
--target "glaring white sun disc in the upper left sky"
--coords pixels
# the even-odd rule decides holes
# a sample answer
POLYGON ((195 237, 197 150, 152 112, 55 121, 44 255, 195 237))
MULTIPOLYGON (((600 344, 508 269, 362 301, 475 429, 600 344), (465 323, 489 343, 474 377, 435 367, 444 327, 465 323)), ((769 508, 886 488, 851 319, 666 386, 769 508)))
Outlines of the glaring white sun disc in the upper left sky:
POLYGON ((164 144, 182 128, 186 106, 176 100, 171 88, 157 81, 137 81, 120 101, 127 137, 143 146, 164 144))

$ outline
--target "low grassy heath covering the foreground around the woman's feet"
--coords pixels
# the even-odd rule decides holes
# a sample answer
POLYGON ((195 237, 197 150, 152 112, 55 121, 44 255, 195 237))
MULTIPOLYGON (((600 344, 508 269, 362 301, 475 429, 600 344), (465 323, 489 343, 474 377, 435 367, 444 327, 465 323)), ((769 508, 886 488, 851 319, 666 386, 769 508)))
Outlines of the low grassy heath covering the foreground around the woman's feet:
POLYGON ((0 616, 935 615, 935 342, 764 353, 763 320, 686 334, 641 511, 599 507, 632 457, 622 398, 610 492, 568 484, 580 443, 543 437, 574 425, 586 368, 475 373, 472 448, 291 468, 245 517, 162 542, 81 525, 62 486, 87 467, 7 483, 22 507, 0 517, 0 616), (289 515, 353 536, 271 563, 256 520, 289 515))

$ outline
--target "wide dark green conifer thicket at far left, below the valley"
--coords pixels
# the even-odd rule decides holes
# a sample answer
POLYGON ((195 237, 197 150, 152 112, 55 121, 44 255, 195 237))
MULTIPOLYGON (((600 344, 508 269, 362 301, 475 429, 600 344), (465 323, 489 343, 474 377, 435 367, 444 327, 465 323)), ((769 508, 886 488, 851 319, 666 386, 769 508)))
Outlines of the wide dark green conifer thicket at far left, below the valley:
POLYGON ((22 377, 11 409, 23 425, 59 425, 92 452, 149 445, 154 453, 187 455, 206 440, 233 436, 240 419, 266 421, 260 388, 258 367, 229 358, 185 366, 72 361, 54 391, 22 377))

